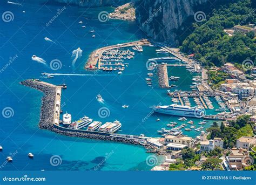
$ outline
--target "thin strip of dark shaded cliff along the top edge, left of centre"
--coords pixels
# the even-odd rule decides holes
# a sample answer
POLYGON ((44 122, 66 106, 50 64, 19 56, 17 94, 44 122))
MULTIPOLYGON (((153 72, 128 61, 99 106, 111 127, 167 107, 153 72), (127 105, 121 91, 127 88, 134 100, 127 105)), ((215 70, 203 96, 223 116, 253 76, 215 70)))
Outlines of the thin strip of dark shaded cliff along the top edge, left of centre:
POLYGON ((131 2, 131 0, 55 0, 60 3, 77 4, 79 6, 119 6, 131 2))

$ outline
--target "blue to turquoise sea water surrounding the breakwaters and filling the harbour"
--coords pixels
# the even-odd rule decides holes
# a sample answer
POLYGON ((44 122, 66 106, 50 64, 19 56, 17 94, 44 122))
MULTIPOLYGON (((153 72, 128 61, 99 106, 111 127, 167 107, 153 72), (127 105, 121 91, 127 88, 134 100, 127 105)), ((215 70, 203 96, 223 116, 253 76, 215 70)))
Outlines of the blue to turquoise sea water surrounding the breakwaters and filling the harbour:
MULTIPOLYGON (((0 12, 11 12, 12 20, 0 21, 0 110, 9 107, 12 112, 10 118, 1 114, 0 145, 3 151, 0 152, 0 163, 4 164, 1 169, 150 170, 153 166, 147 165, 146 159, 152 154, 146 153, 143 147, 70 138, 39 129, 43 94, 19 85, 19 81, 28 78, 39 78, 52 84, 65 81, 68 88, 62 93, 62 109, 71 113, 73 120, 84 115, 103 122, 117 119, 122 122, 122 131, 118 133, 160 136, 157 130, 178 118, 153 114, 145 119, 151 111, 149 106, 171 104, 167 91, 158 87, 156 72, 153 88, 146 85, 145 78, 149 72, 146 61, 159 57, 155 47, 144 47, 143 53, 136 53, 134 59, 125 61, 129 66, 120 76, 83 69, 89 54, 99 47, 146 38, 136 23, 122 20, 100 22, 98 14, 111 12, 113 8, 66 5, 64 9, 64 4, 24 1, 23 6, 19 6, 6 2, 0 2, 0 12), (49 24, 50 20, 53 21, 49 24), (80 20, 83 24, 78 23, 80 20), (90 30, 95 30, 95 38, 92 38, 90 30), (45 37, 53 42, 45 40, 45 37), (83 50, 82 56, 73 62, 75 57, 72 57, 72 51, 78 47, 83 50), (44 59, 45 64, 32 60, 32 55, 44 59), (60 61, 61 68, 52 70, 52 60, 60 61), (42 77, 42 72, 59 75, 48 79, 42 77), (97 94, 102 95, 104 103, 96 100, 97 94), (124 104, 129 108, 122 108, 124 104), (99 116, 98 111, 102 107, 109 110, 106 118, 99 116), (157 122, 157 118, 160 121, 157 122), (35 155, 33 159, 28 158, 29 152, 35 155), (14 154, 12 163, 4 163, 6 156, 14 154), (55 155, 61 159, 61 164, 57 166, 50 162, 55 155)), ((178 82, 181 90, 189 90, 192 76, 196 75, 190 74, 184 67, 169 68, 169 73, 181 77, 178 82)), ((214 100, 213 104, 218 107, 214 100)), ((214 111, 207 113, 213 114, 214 111)), ((210 122, 205 127, 209 125, 210 122)), ((199 133, 191 131, 185 134, 194 137, 199 133)), ((158 162, 161 161, 163 159, 158 157, 158 162)))

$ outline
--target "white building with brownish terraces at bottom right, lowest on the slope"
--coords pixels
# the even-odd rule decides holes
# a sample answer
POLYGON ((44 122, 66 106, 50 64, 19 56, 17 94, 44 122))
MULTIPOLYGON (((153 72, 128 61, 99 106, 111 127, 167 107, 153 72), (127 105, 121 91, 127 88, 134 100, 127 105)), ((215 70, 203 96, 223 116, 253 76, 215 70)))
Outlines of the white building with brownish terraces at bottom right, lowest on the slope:
POLYGON ((247 166, 243 161, 246 156, 248 156, 246 149, 232 148, 230 154, 226 156, 230 170, 241 170, 243 167, 247 166))

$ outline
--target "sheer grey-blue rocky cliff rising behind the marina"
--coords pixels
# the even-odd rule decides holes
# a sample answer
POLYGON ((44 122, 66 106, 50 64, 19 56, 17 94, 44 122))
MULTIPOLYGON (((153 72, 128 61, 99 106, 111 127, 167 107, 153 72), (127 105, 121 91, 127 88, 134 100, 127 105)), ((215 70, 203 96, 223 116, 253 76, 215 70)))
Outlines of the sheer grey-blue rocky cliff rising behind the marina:
POLYGON ((136 3, 136 19, 149 37, 176 45, 174 30, 189 16, 193 16, 197 5, 208 0, 139 0, 136 3))

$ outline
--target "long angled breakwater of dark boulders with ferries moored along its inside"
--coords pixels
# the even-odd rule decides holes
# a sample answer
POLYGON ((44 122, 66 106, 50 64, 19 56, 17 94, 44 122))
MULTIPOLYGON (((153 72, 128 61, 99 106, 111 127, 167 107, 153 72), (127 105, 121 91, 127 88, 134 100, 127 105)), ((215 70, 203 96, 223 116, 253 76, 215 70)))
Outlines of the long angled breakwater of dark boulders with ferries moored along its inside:
POLYGON ((82 129, 75 130, 75 129, 62 127, 58 124, 59 120, 57 121, 57 123, 55 121, 56 100, 58 99, 56 98, 56 95, 57 95, 58 86, 45 83, 44 81, 40 81, 37 79, 24 80, 24 81, 21 81, 21 84, 24 86, 35 88, 36 90, 44 93, 44 96, 42 98, 39 128, 48 129, 49 131, 55 132, 57 134, 62 134, 62 135, 71 136, 71 137, 122 142, 122 143, 127 143, 132 145, 142 145, 146 149, 156 151, 156 153, 158 154, 164 153, 163 149, 156 149, 154 146, 150 145, 150 143, 147 142, 145 137, 140 137, 140 136, 124 137, 123 134, 85 131, 82 129))

